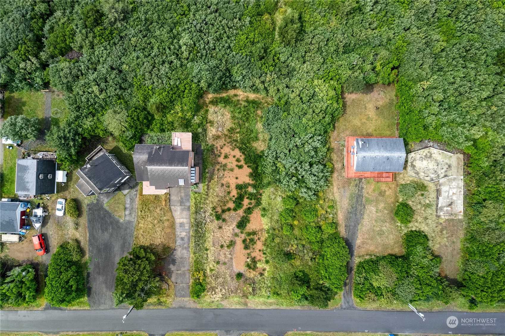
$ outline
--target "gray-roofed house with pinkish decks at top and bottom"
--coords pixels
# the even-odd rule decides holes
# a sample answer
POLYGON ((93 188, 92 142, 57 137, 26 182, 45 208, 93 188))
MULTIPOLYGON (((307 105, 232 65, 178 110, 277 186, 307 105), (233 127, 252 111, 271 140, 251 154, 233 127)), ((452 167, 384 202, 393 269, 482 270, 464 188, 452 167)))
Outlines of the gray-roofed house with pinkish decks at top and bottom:
POLYGON ((191 133, 178 132, 172 133, 172 145, 135 145, 133 163, 137 181, 143 183, 142 193, 160 195, 168 188, 198 183, 201 159, 195 157, 192 145, 191 133))

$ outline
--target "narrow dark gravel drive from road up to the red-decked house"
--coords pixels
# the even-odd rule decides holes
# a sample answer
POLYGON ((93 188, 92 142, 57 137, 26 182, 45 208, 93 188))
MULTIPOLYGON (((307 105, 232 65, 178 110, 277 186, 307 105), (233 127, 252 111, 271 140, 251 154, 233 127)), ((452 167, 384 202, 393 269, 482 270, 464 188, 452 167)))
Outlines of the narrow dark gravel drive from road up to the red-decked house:
POLYGON ((354 275, 354 259, 356 241, 358 240, 358 228, 365 214, 365 179, 355 179, 351 184, 349 195, 349 207, 345 214, 345 244, 349 248, 350 261, 347 264, 347 279, 342 293, 341 309, 356 309, 352 300, 352 278, 354 275))

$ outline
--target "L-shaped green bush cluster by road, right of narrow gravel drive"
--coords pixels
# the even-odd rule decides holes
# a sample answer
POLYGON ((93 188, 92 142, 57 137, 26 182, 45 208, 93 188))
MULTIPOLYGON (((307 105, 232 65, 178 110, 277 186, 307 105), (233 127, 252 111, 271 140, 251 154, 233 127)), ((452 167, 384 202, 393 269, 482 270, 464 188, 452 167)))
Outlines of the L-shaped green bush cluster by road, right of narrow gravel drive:
POLYGON ((455 298, 457 290, 440 276, 440 258, 433 255, 424 233, 403 235, 403 249, 405 255, 369 258, 356 265, 355 298, 385 303, 440 300, 445 304, 455 298))

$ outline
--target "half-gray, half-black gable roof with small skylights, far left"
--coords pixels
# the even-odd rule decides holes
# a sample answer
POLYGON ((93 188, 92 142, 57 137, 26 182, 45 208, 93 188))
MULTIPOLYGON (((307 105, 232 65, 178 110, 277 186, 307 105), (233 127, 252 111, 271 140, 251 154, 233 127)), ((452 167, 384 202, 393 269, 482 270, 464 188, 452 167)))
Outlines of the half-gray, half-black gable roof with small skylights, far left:
POLYGON ((18 159, 15 192, 20 196, 55 194, 56 165, 57 163, 53 160, 18 159))

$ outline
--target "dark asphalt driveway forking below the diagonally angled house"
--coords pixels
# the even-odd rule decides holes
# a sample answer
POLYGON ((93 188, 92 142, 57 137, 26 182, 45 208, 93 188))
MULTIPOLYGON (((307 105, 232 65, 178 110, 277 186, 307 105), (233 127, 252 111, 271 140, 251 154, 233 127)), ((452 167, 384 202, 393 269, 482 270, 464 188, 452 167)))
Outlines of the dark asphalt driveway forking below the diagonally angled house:
POLYGON ((125 220, 121 220, 104 207, 106 199, 86 206, 88 224, 88 249, 91 262, 88 272, 88 302, 91 309, 114 307, 112 292, 119 258, 125 256, 133 244, 137 192, 135 187, 126 195, 125 220))

